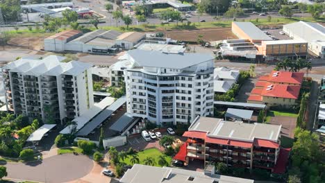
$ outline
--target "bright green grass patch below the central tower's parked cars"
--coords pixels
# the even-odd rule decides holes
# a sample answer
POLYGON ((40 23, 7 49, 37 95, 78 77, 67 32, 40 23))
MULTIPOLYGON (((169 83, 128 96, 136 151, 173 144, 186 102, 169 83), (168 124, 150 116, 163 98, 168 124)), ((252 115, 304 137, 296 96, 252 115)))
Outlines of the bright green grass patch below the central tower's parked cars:
MULTIPOLYGON (((156 148, 150 148, 150 149, 146 149, 143 151, 140 151, 139 153, 137 153, 139 155, 139 159, 140 159, 140 164, 143 164, 143 160, 146 159, 146 157, 153 157, 153 159, 155 159, 155 166, 159 166, 158 165, 158 157, 160 155, 165 156, 165 159, 167 160, 167 162, 172 162, 172 157, 166 156, 163 153, 161 153, 158 149, 156 148)), ((126 159, 124 159, 124 163, 132 165, 130 162, 131 156, 128 156, 126 159)))

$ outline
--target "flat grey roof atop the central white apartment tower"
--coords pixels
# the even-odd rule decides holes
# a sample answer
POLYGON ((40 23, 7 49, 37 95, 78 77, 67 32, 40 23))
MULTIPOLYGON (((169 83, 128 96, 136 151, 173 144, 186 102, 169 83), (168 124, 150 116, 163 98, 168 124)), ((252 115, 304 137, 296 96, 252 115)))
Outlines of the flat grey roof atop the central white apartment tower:
POLYGON ((140 67, 183 69, 215 58, 207 53, 163 53, 134 49, 127 52, 140 67), (155 58, 155 59, 153 59, 155 58))

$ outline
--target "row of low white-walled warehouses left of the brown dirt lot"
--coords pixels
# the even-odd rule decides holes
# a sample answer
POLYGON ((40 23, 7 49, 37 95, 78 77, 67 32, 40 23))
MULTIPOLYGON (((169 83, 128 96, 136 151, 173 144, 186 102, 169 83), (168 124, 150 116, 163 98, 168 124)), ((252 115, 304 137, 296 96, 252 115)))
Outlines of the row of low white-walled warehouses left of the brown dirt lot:
POLYGON ((116 30, 94 30, 84 35, 67 30, 44 39, 45 51, 77 51, 83 53, 114 53, 117 49, 133 49, 145 38, 144 33, 119 33, 116 30))

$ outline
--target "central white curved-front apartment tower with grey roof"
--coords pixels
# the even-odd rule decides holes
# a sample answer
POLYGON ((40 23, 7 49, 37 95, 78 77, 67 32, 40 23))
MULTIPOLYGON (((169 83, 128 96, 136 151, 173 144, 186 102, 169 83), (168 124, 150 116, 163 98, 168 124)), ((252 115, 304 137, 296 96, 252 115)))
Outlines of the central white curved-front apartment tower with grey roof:
POLYGON ((157 125, 213 114, 212 55, 131 50, 124 57, 127 112, 157 125))

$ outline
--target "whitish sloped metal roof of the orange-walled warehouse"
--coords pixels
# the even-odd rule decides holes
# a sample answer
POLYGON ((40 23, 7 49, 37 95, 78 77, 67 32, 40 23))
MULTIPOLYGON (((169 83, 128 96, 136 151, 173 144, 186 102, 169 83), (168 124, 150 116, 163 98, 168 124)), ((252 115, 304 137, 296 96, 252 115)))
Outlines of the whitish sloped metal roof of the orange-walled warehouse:
POLYGON ((260 28, 255 26, 250 21, 233 21, 233 24, 238 26, 251 40, 272 40, 260 28))

